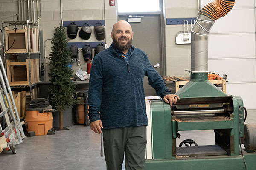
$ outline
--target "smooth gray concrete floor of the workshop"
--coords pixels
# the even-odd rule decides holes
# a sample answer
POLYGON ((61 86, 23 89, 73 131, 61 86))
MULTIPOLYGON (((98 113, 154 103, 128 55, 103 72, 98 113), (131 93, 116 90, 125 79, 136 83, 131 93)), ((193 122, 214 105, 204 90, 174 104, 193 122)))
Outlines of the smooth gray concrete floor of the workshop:
MULTIPOLYGON (((248 110, 246 123, 256 123, 256 110, 248 110)), ((55 135, 26 137, 16 145, 17 154, 3 150, 0 170, 105 170, 100 156, 100 135, 90 127, 73 125, 55 135)), ((192 139, 198 145, 215 144, 213 130, 180 132, 177 145, 192 139)), ((122 169, 125 169, 123 164, 122 169)))

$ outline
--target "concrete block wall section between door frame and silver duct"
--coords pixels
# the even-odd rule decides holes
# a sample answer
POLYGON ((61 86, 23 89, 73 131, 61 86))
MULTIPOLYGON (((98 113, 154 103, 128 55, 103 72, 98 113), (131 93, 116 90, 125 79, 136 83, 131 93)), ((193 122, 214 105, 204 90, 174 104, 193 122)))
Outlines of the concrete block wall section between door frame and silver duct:
MULTIPOLYGON (((177 45, 176 34, 184 30, 183 25, 166 25, 166 18, 192 18, 198 16, 197 0, 165 0, 165 57, 166 75, 189 77, 185 69, 190 69, 190 44, 177 45)), ((189 30, 191 26, 188 26, 189 30)))

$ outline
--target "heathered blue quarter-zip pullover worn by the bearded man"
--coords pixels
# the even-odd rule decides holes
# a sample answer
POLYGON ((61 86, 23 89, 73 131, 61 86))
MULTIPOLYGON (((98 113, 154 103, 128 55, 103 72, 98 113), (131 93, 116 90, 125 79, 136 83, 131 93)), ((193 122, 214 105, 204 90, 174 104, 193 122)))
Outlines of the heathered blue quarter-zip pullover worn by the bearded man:
POLYGON ((104 129, 148 125, 143 78, 163 98, 171 92, 150 64, 147 54, 131 47, 125 59, 111 45, 93 59, 89 81, 90 122, 102 120, 104 129))

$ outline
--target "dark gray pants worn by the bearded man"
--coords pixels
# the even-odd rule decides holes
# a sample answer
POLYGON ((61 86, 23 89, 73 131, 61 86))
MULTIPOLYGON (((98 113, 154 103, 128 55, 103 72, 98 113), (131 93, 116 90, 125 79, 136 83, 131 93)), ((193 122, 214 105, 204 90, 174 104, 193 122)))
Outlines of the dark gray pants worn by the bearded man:
POLYGON ((146 126, 103 130, 107 170, 145 170, 146 126))

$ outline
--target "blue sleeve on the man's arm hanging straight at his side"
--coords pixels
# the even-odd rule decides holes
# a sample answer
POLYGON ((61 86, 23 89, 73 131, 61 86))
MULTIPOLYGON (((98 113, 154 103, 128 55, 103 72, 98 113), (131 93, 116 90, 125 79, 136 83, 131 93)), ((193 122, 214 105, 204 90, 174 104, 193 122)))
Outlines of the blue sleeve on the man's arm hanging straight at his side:
POLYGON ((93 59, 93 64, 90 70, 88 104, 89 104, 89 119, 90 122, 100 120, 100 106, 102 101, 102 84, 103 71, 102 62, 98 57, 93 59))

